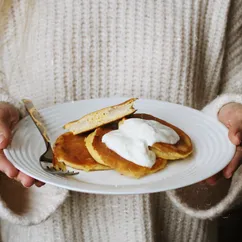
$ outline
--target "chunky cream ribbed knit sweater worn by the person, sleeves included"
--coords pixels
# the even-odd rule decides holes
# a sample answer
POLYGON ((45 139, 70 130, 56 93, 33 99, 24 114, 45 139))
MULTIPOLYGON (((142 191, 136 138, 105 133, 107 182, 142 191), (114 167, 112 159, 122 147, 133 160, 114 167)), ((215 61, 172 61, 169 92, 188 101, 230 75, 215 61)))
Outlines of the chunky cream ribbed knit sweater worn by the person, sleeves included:
MULTIPOLYGON (((13 2, 0 42, 0 99, 20 109, 23 97, 44 108, 137 96, 209 103, 204 112, 216 118, 242 102, 241 0, 41 0, 28 13, 26 2, 13 2)), ((25 189, 2 176, 1 239, 216 241, 215 218, 240 203, 241 179, 240 168, 213 187, 102 196, 25 189)))

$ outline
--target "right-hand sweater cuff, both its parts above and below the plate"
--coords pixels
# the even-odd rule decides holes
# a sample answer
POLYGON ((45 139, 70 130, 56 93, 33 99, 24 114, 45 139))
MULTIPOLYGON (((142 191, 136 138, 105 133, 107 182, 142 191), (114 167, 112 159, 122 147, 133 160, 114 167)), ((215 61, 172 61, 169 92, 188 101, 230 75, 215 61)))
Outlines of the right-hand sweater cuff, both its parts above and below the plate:
MULTIPOLYGON (((219 110, 227 103, 242 103, 242 95, 222 94, 203 108, 203 112, 218 118, 219 110)), ((222 215, 225 211, 242 203, 242 166, 236 171, 230 186, 229 181, 222 181, 216 186, 195 184, 187 188, 169 191, 167 194, 174 205, 186 214, 199 219, 212 219, 222 215), (217 192, 225 190, 224 192, 217 192), (217 190, 217 191, 216 191, 217 190), (196 198, 193 195, 196 194, 196 198), (212 195, 209 195, 212 194, 212 195), (208 206, 204 208, 204 197, 209 197, 208 206), (196 199, 196 204, 194 201, 196 199), (211 205, 210 205, 211 204, 211 205), (196 208, 194 208, 196 207, 196 208), (201 209, 203 207, 203 209, 201 209)))

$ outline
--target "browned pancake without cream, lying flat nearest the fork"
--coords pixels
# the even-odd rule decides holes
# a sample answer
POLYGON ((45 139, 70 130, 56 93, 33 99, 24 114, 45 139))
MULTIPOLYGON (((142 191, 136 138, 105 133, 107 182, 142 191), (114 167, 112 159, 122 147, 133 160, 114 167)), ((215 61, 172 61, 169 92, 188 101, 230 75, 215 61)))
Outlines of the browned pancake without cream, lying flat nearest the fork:
MULTIPOLYGON (((84 171, 108 170, 107 166, 97 163, 89 154, 84 139, 87 135, 62 134, 56 140, 54 156, 59 162, 84 171)), ((55 160, 54 160, 55 162, 55 160)))

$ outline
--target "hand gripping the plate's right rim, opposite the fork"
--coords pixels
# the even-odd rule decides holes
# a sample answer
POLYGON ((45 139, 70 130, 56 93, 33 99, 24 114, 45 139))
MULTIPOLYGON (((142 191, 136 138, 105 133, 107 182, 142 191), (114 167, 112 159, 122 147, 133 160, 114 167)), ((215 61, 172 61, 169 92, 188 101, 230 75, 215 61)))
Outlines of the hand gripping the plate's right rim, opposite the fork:
POLYGON ((229 103, 223 106, 218 114, 219 120, 229 129, 229 139, 237 146, 235 156, 224 170, 206 180, 210 185, 214 185, 220 176, 229 179, 240 166, 242 161, 242 104, 229 103))

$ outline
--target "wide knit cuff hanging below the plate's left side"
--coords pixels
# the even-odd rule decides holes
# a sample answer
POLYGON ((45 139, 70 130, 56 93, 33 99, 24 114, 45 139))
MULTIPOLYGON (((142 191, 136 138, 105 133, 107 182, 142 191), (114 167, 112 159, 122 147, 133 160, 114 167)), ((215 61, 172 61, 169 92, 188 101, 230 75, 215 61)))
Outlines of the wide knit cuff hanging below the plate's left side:
POLYGON ((33 225, 46 220, 67 196, 65 189, 50 185, 24 188, 0 175, 0 217, 13 224, 33 225))

